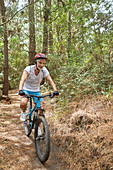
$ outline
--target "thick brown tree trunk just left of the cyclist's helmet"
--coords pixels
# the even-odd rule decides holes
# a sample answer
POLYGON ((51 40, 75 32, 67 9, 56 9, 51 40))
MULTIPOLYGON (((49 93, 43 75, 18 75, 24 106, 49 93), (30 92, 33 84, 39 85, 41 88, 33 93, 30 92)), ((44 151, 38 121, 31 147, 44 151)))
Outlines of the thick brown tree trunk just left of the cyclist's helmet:
POLYGON ((34 64, 34 56, 36 54, 35 42, 35 19, 34 19, 34 0, 29 0, 29 64, 34 64), (33 3, 32 5, 30 5, 33 3))

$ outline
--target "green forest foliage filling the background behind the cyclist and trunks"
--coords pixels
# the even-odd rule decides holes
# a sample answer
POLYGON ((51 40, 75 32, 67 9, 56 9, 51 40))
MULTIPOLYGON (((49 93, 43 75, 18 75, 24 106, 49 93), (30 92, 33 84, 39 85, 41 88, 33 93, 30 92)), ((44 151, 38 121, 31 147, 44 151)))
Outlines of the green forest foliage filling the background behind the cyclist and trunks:
MULTIPOLYGON (((14 5, 14 4, 13 4, 14 5)), ((43 47, 44 1, 35 3, 36 51, 43 47)), ((6 8, 7 19, 17 11, 17 4, 6 8), (12 11, 11 11, 12 9, 12 11), (10 13, 10 15, 8 15, 10 13)), ((113 93, 113 31, 111 1, 65 0, 48 7, 48 30, 52 26, 53 54, 48 54, 47 68, 61 94, 59 105, 67 105, 89 94, 111 96, 113 93), (68 47, 68 12, 71 11, 70 57, 68 47)), ((29 19, 27 8, 7 25, 9 43, 9 82, 18 87, 22 70, 28 65, 29 19)), ((4 30, 0 27, 0 32, 4 30)), ((0 37, 1 38, 1 37, 0 37)), ((2 37, 3 40, 3 37, 2 37)), ((0 76, 3 79, 3 42, 0 39, 0 76)))

